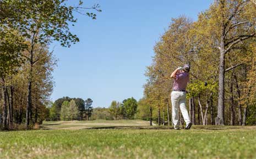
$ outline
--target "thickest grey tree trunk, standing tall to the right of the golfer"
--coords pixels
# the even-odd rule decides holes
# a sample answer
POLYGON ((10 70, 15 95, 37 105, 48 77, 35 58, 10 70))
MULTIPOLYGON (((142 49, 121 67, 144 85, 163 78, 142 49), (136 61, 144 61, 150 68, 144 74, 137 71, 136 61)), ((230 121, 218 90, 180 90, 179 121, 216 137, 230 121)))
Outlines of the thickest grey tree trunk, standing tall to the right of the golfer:
MULTIPOLYGON (((221 8, 224 9, 224 2, 221 2, 221 8)), ((224 15, 222 15, 221 21, 221 38, 220 38, 220 63, 219 63, 219 98, 217 109, 217 125, 224 125, 224 82, 225 82, 225 21, 224 15)))

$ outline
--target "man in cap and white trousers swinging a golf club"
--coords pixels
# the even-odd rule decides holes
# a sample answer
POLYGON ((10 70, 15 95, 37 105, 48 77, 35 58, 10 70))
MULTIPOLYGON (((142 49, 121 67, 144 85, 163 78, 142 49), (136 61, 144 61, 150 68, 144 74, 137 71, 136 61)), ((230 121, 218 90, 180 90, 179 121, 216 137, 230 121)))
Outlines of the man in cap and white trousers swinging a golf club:
POLYGON ((176 130, 180 129, 178 107, 180 107, 182 116, 186 122, 185 129, 190 129, 192 126, 186 107, 186 87, 189 81, 189 71, 190 66, 186 64, 183 67, 178 67, 171 75, 174 78, 173 91, 171 93, 172 122, 176 130))

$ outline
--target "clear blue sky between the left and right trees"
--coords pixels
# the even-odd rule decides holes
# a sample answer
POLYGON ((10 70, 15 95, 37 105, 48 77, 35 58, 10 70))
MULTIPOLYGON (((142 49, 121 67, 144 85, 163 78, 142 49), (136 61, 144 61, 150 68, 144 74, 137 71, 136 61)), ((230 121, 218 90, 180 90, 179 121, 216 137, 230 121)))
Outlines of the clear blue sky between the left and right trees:
POLYGON ((70 27, 80 42, 63 48, 55 42, 59 59, 53 72, 51 99, 62 96, 91 98, 94 107, 108 107, 112 100, 143 97, 146 66, 151 64, 154 45, 168 28, 171 18, 186 15, 197 20, 213 0, 87 0, 99 3, 97 20, 75 14, 70 27))

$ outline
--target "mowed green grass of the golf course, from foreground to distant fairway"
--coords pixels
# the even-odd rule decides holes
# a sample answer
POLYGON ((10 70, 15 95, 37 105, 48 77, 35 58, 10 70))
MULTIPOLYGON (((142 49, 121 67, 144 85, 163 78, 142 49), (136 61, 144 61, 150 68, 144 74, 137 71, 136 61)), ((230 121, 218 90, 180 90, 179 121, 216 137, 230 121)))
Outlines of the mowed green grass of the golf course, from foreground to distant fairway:
POLYGON ((91 121, 69 122, 68 129, 59 123, 43 125, 50 130, 0 132, 0 158, 256 158, 255 126, 174 130, 144 121, 91 121), (95 124, 84 128, 89 123, 95 124))

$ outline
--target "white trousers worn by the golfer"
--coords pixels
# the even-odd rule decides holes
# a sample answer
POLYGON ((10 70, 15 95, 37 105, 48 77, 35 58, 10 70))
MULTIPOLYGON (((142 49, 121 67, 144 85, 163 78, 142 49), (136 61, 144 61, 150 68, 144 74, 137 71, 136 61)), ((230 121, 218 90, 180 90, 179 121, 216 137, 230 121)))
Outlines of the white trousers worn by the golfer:
POLYGON ((172 123, 175 128, 179 127, 179 112, 178 107, 181 108, 182 116, 186 122, 186 124, 190 123, 190 119, 188 116, 188 111, 186 107, 186 92, 172 91, 171 93, 171 101, 172 101, 172 123))

